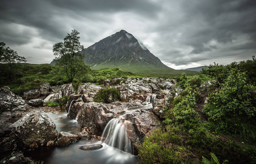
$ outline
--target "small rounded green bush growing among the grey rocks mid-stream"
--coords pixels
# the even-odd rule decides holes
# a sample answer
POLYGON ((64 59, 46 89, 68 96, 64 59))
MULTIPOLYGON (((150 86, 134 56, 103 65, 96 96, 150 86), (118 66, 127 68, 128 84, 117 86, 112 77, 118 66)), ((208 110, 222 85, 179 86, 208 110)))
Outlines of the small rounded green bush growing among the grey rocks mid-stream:
POLYGON ((95 102, 111 103, 120 100, 120 92, 113 87, 102 88, 97 92, 94 99, 95 102))

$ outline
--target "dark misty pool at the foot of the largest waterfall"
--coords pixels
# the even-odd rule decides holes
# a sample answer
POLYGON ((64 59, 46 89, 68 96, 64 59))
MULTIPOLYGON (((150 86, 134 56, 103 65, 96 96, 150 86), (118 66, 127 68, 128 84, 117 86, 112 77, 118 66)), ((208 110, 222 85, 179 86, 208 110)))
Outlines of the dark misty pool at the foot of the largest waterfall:
POLYGON ((44 164, 136 164, 138 158, 98 140, 78 141, 63 147, 41 147, 25 155, 44 164), (98 150, 80 150, 82 145, 102 144, 98 150))

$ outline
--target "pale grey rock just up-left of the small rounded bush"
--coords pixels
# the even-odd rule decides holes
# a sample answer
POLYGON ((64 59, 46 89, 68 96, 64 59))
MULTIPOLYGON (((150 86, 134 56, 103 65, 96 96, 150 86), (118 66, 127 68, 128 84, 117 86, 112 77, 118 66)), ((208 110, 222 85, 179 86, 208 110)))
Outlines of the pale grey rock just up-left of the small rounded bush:
POLYGON ((96 93, 101 89, 102 87, 100 87, 99 85, 95 85, 95 84, 91 84, 91 83, 86 83, 84 85, 80 85, 78 87, 78 93, 80 94, 89 94, 89 97, 94 97, 94 95, 96 95, 96 93))

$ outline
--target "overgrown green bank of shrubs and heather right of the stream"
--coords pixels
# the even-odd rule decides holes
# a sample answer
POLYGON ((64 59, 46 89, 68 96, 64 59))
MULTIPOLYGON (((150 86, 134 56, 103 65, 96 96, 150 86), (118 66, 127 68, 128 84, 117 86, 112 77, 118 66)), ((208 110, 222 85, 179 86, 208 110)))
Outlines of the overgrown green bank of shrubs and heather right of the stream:
POLYGON ((140 163, 256 163, 255 70, 253 56, 179 77, 183 92, 169 97, 162 127, 140 144, 140 163), (199 90, 213 79, 214 85, 199 90), (205 95, 209 99, 204 106, 205 95))

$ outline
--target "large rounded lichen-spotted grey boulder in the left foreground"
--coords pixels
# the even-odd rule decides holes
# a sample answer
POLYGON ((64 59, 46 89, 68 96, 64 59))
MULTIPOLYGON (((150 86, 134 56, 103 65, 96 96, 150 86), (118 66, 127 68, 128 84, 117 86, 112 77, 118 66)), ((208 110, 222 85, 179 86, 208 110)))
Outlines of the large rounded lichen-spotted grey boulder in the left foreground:
POLYGON ((25 147, 37 148, 58 136, 56 125, 41 110, 33 110, 10 126, 25 147))

